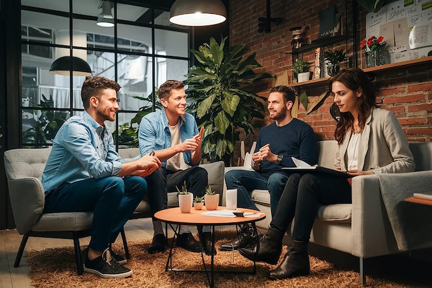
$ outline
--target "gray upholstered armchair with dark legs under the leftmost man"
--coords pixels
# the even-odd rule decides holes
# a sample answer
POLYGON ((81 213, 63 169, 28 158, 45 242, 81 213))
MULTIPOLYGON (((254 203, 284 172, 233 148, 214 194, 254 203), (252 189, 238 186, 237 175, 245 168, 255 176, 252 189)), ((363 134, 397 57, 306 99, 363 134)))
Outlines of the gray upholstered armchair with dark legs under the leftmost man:
POLYGON ((81 275, 83 267, 79 238, 90 236, 93 213, 43 213, 45 193, 41 175, 49 154, 50 148, 41 148, 13 149, 4 155, 14 221, 18 233, 23 235, 14 267, 19 267, 30 236, 64 238, 74 242, 77 273, 81 275))

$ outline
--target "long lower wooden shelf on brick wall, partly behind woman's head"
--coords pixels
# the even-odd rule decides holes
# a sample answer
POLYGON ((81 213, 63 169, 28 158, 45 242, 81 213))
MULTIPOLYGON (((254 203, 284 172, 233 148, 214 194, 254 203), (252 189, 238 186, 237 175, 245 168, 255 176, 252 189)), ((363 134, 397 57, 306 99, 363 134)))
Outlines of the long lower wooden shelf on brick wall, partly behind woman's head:
MULTIPOLYGON (((385 64, 385 65, 375 66, 375 67, 371 67, 371 68, 364 68, 363 70, 366 73, 374 73, 377 71, 392 70, 392 69, 396 69, 396 68, 406 68, 409 66, 424 65, 424 64, 432 64, 432 56, 422 57, 419 59, 413 59, 413 60, 402 61, 402 62, 397 62, 397 63, 385 64)), ((312 80, 304 81, 304 82, 300 82, 300 83, 291 83, 291 84, 288 84, 288 86, 290 86, 290 87, 314 86, 314 85, 324 86, 330 82, 330 79, 331 79, 331 77, 312 79, 312 80)))

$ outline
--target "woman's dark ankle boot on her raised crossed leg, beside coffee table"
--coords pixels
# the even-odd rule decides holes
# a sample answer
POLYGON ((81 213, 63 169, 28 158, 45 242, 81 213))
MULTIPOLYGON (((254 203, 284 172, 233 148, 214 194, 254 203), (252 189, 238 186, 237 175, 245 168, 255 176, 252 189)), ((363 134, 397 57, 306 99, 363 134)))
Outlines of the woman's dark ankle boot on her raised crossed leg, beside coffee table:
POLYGON ((267 233, 259 240, 259 245, 252 248, 239 249, 239 253, 251 261, 255 259, 257 262, 266 262, 275 265, 282 252, 282 238, 284 238, 284 232, 269 228, 267 233), (259 249, 257 251, 258 246, 259 249))

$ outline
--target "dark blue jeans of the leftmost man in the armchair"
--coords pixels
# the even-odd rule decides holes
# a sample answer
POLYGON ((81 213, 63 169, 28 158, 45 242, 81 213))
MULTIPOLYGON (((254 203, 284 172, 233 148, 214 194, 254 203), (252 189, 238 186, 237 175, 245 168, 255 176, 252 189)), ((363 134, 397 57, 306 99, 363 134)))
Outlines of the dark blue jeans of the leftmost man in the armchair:
POLYGON ((138 176, 65 183, 46 195, 43 213, 93 211, 88 246, 104 251, 115 241, 146 192, 147 182, 138 176))

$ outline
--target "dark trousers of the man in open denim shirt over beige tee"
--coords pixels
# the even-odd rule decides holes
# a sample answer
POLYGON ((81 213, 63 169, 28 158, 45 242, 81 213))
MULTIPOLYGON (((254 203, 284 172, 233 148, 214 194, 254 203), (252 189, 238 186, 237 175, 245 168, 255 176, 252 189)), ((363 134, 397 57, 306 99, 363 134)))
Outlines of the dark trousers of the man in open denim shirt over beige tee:
POLYGON ((157 169, 155 172, 146 176, 148 183, 148 204, 152 218, 155 220, 155 213, 167 208, 168 195, 167 191, 181 191, 183 182, 186 180, 188 191, 195 196, 202 197, 206 193, 208 184, 207 171, 199 166, 193 166, 183 171, 167 173, 164 168, 157 169))

